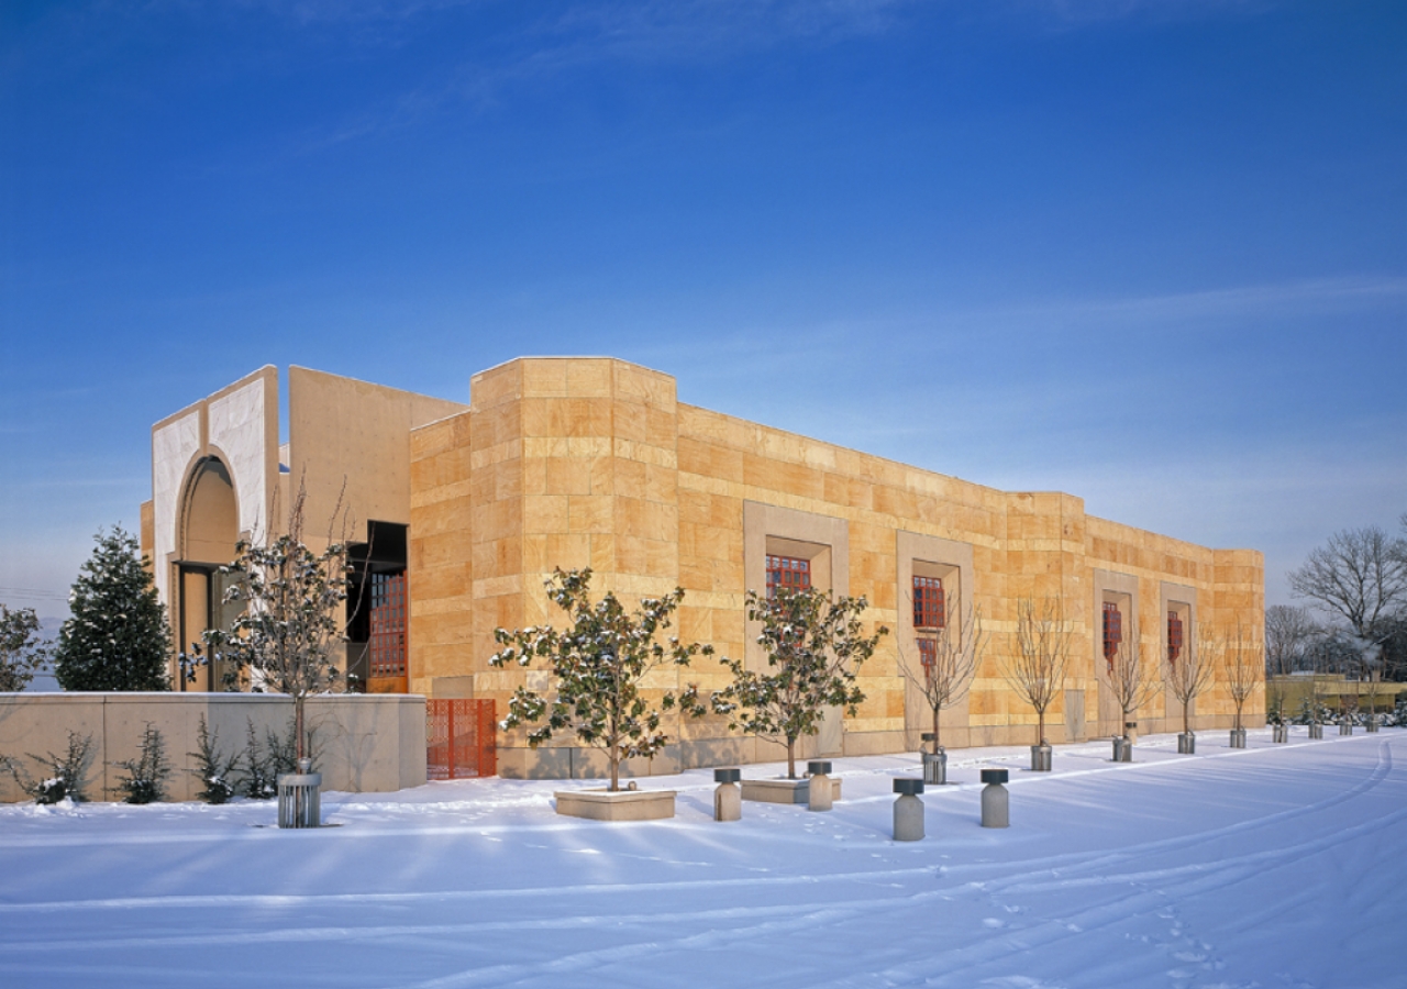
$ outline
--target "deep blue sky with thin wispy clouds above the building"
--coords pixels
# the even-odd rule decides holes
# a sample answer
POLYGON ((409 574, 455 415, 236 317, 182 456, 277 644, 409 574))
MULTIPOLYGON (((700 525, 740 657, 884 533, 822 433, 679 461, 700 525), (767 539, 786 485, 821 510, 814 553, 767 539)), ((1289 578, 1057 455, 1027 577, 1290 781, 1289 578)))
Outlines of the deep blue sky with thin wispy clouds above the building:
POLYGON ((0 599, 266 363, 682 401, 1286 568, 1407 511, 1407 7, 0 6, 0 599))

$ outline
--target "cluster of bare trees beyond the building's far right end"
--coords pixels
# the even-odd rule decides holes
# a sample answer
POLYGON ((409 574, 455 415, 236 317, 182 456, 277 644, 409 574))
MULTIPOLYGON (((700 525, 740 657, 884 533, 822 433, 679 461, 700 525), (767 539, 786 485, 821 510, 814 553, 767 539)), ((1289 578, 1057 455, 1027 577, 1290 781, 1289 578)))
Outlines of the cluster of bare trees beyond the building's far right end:
POLYGON ((1265 670, 1407 681, 1407 513, 1330 536, 1289 574, 1307 605, 1265 611, 1265 670))

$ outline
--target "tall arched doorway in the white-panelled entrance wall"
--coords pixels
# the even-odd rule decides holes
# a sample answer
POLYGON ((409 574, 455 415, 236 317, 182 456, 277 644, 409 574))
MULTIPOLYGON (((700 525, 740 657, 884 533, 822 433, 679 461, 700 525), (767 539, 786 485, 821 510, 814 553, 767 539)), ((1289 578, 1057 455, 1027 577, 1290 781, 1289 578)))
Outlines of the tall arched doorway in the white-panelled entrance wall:
MULTIPOLYGON (((238 613, 238 606, 224 604, 228 578, 219 574, 219 567, 235 559, 238 542, 239 505, 229 468, 218 457, 203 457, 186 484, 177 526, 172 626, 179 654, 190 656, 193 646, 201 643, 203 632, 229 627, 238 613)), ((176 689, 224 689, 224 672, 218 664, 200 667, 190 679, 177 675, 176 689)))

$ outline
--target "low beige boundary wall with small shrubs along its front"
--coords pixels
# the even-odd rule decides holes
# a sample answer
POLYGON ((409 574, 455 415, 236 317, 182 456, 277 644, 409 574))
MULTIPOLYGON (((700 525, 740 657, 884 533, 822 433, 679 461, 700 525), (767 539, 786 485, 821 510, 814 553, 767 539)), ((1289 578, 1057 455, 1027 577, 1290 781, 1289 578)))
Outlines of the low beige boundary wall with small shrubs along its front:
MULTIPOLYGON (((17 760, 31 777, 44 770, 30 754, 62 755, 69 732, 93 736, 87 795, 118 800, 124 771, 114 763, 135 760, 146 723, 166 741, 172 775, 166 795, 193 800, 204 789, 196 778, 201 715, 225 753, 243 751, 248 725, 259 743, 267 730, 284 736, 293 722, 293 698, 281 694, 0 694, 0 755, 17 760)), ((315 730, 318 771, 326 789, 388 792, 425 782, 425 698, 416 695, 339 694, 308 698, 308 727, 315 730)), ((0 802, 28 796, 10 772, 0 772, 0 802)))

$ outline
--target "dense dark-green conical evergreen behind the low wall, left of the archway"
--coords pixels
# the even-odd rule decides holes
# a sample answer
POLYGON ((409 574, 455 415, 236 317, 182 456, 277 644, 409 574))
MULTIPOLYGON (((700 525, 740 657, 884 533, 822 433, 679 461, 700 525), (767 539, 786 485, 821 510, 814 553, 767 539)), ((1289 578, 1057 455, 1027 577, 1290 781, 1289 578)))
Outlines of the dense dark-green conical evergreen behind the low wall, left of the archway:
POLYGON ((170 689, 172 633, 136 537, 114 526, 96 539, 69 595, 53 675, 66 691, 170 689))

